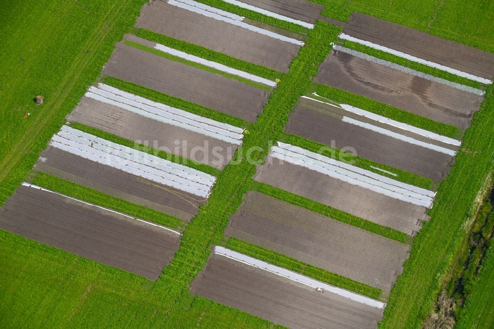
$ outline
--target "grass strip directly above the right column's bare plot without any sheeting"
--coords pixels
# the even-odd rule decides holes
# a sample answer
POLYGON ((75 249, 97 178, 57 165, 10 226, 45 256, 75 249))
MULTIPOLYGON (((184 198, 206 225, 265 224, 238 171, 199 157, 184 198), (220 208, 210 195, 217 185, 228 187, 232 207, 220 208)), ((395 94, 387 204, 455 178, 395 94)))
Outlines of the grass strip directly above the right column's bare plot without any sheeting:
POLYGON ((345 224, 349 224, 363 230, 375 233, 377 235, 383 236, 385 238, 396 240, 401 243, 411 244, 412 237, 407 235, 406 233, 400 232, 398 230, 382 226, 368 220, 359 218, 357 216, 351 215, 347 212, 335 209, 331 206, 326 206, 320 204, 316 201, 312 201, 302 196, 298 196, 291 192, 282 190, 280 188, 265 184, 259 183, 256 181, 250 182, 250 190, 257 191, 274 197, 276 199, 288 202, 289 204, 295 206, 301 206, 311 211, 317 212, 321 215, 330 217, 334 220, 343 222, 345 224))

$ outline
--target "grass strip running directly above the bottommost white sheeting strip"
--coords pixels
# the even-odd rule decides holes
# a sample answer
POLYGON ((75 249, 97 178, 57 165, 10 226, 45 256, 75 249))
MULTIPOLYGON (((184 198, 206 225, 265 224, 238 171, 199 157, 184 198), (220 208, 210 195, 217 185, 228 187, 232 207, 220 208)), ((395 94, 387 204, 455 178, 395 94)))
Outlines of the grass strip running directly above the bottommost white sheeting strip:
POLYGON ((345 278, 322 268, 290 258, 276 251, 258 247, 236 238, 228 239, 225 247, 246 254, 247 256, 255 257, 273 265, 311 277, 331 286, 347 289, 374 299, 379 299, 381 297, 382 291, 378 288, 345 278))

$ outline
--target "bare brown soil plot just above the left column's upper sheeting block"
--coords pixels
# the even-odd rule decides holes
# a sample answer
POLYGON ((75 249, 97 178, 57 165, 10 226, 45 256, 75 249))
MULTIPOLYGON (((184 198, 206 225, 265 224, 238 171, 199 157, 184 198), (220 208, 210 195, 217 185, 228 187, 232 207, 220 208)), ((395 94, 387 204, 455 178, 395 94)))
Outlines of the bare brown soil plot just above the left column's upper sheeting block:
POLYGON ((255 122, 269 92, 118 43, 103 75, 137 83, 216 111, 255 122))

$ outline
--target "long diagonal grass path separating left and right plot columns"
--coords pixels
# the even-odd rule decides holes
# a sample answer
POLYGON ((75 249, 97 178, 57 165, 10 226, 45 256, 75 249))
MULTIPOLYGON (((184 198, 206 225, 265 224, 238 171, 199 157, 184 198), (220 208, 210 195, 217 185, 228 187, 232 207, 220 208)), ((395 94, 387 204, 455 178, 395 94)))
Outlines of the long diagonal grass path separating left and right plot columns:
MULTIPOLYGON (((242 203, 250 185, 248 182, 256 172, 256 163, 263 161, 270 143, 282 133, 288 122, 288 113, 309 88, 319 63, 329 53, 329 42, 335 40, 340 32, 341 28, 324 22, 317 22, 315 29, 309 31, 305 46, 290 64, 285 79, 271 94, 250 133, 244 137, 244 144, 236 152, 233 163, 222 170, 208 204, 202 206, 199 215, 187 225, 180 248, 165 268, 163 280, 159 280, 153 289, 156 296, 166 295, 177 301, 168 312, 169 321, 188 321, 183 316, 184 302, 190 303, 194 299, 184 291, 188 291, 190 282, 206 265, 210 247, 223 241, 229 217, 242 203), (247 153, 252 161, 247 161, 247 153)), ((183 323, 183 327, 189 325, 196 326, 195 323, 183 323)))

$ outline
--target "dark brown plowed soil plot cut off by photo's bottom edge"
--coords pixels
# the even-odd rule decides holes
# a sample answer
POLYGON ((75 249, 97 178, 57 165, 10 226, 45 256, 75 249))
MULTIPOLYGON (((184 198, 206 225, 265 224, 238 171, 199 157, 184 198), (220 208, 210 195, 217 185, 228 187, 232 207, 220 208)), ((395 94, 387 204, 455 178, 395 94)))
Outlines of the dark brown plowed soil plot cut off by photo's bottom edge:
POLYGON ((289 328, 375 328, 382 310, 213 254, 191 292, 289 328))

